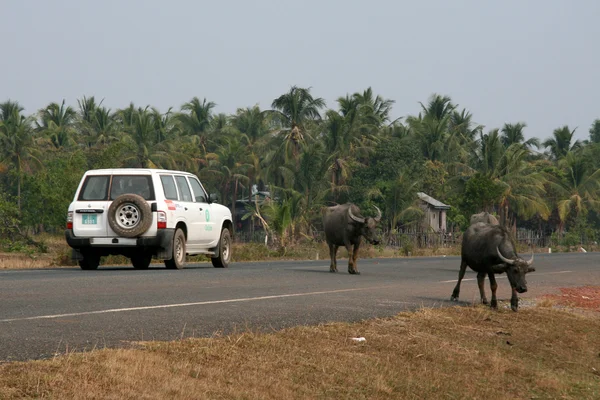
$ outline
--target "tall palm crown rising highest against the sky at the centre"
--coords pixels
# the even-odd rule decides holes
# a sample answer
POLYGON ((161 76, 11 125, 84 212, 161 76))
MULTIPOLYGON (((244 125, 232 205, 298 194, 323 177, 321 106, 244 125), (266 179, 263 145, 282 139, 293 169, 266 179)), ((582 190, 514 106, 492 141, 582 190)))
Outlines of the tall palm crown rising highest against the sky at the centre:
MULTIPOLYGON (((276 113, 283 127, 280 133, 285 137, 285 148, 297 160, 298 150, 307 139, 307 124, 321 119, 319 110, 325 107, 325 100, 313 98, 310 88, 292 86, 288 93, 273 100, 271 107, 271 112, 276 113)), ((286 154, 289 154, 288 151, 286 154)))

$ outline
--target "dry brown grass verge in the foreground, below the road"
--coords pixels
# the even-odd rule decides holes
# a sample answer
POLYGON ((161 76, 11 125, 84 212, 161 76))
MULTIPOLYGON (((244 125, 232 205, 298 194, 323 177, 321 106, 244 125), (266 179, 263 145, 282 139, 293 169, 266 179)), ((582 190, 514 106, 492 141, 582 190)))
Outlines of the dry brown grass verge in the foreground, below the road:
POLYGON ((598 332, 547 307, 423 309, 0 365, 0 398, 597 399, 598 332))

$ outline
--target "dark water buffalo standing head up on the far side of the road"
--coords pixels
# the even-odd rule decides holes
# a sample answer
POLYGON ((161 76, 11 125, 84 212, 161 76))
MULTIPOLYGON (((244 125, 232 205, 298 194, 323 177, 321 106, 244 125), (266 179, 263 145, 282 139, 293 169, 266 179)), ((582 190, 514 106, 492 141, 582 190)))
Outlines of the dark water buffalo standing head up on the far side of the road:
POLYGON ((331 257, 330 272, 337 272, 337 250, 340 246, 345 246, 348 250, 348 272, 360 274, 356 268, 356 258, 362 238, 372 244, 379 243, 376 228, 381 220, 381 211, 375 208, 377 209, 375 218, 363 217, 360 209, 351 203, 323 208, 323 228, 331 257), (354 249, 350 252, 352 246, 354 249))

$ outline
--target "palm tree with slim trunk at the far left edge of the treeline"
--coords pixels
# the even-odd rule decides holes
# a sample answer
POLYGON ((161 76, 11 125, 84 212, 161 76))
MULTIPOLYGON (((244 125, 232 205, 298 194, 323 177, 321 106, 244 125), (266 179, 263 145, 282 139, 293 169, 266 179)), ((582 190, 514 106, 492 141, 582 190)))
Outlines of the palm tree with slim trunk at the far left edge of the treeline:
POLYGON ((21 114, 18 103, 0 104, 0 163, 16 168, 17 208, 21 213, 21 186, 23 174, 35 166, 42 166, 40 150, 33 130, 33 118, 21 114))

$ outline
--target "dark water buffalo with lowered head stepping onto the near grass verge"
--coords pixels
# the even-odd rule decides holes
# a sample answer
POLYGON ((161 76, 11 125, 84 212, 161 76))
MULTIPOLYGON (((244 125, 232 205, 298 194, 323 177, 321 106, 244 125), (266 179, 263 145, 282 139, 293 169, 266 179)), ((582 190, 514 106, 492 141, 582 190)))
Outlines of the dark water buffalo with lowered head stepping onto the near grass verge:
POLYGON ((465 276, 467 266, 469 266, 477 272, 477 284, 479 285, 479 293, 483 304, 487 304, 484 289, 485 276, 487 275, 490 278, 491 306, 497 308, 496 289, 498 284, 496 283, 495 274, 506 272, 512 287, 510 307, 513 311, 517 311, 519 307, 517 293, 527 291, 525 274, 535 271, 535 268, 531 266, 532 264, 533 254, 529 261, 525 261, 517 255, 515 244, 506 228, 481 222, 473 224, 463 236, 458 282, 450 299, 453 301, 458 300, 460 282, 465 276))

